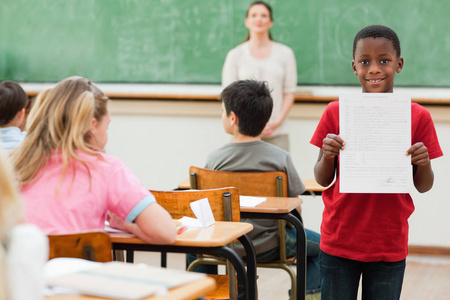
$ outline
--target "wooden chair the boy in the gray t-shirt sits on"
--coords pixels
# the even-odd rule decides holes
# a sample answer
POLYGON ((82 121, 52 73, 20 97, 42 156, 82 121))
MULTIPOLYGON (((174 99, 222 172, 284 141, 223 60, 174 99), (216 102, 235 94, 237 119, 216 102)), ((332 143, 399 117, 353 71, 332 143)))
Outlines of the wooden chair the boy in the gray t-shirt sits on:
MULTIPOLYGON (((197 167, 189 168, 191 189, 213 189, 224 186, 236 187, 240 195, 287 197, 287 175, 285 172, 226 172, 197 167)), ((291 299, 297 297, 296 274, 290 268, 295 257, 286 257, 285 221, 279 220, 280 259, 276 261, 258 262, 262 268, 278 268, 285 270, 291 278, 291 299)))

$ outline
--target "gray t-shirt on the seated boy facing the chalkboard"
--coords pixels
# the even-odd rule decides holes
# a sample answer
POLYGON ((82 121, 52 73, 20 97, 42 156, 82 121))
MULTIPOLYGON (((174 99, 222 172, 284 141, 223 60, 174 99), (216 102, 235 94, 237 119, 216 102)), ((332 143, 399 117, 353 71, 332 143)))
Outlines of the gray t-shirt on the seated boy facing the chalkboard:
MULTIPOLYGON (((282 171, 287 174, 289 197, 297 197, 306 190, 289 153, 263 141, 226 144, 208 155, 205 168, 230 172, 282 171)), ((248 236, 257 254, 279 246, 277 220, 241 221, 253 224, 248 236)), ((236 244, 236 251, 241 256, 245 254, 240 244, 236 244)))

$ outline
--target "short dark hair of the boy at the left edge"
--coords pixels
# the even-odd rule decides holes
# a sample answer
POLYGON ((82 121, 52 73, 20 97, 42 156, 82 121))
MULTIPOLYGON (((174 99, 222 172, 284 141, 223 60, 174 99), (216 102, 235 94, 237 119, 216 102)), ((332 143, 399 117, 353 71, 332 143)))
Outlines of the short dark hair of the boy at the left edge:
POLYGON ((0 82, 0 126, 10 123, 28 103, 28 96, 19 84, 14 81, 0 82))

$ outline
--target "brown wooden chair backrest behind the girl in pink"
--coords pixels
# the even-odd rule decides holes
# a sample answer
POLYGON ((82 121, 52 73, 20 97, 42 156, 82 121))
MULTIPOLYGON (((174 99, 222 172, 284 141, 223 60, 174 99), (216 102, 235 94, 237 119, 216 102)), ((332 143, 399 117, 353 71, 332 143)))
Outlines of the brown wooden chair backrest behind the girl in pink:
POLYGON ((49 234, 50 257, 83 258, 97 262, 112 261, 109 235, 101 231, 49 234))

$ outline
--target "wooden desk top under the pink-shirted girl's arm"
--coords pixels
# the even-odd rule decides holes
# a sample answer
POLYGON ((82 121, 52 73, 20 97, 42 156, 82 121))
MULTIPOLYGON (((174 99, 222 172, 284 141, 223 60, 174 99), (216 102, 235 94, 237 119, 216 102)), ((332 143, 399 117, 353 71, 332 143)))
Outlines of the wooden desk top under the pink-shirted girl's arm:
MULTIPOLYGON (((253 225, 241 222, 216 222, 207 228, 188 228, 177 236, 174 246, 221 247, 253 230, 253 225)), ((109 233, 111 242, 145 244, 138 237, 124 233, 109 233)))

